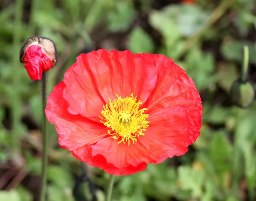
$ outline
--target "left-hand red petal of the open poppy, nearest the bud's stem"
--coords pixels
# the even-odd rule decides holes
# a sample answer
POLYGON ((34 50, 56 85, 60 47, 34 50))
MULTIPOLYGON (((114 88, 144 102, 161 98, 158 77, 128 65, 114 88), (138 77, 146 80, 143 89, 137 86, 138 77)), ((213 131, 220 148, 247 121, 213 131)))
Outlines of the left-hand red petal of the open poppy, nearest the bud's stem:
POLYGON ((55 86, 45 109, 47 119, 55 124, 59 133, 61 147, 74 150, 87 144, 94 144, 107 136, 107 128, 101 123, 67 112, 68 103, 62 97, 64 88, 64 82, 55 86))

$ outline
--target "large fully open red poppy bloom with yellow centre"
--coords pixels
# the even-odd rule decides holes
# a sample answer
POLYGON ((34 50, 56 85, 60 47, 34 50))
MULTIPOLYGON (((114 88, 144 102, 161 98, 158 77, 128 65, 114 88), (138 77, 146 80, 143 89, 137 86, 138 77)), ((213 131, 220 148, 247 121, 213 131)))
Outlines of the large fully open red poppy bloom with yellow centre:
POLYGON ((77 57, 45 111, 61 147, 117 176, 186 153, 203 112, 194 82, 172 59, 105 49, 77 57))

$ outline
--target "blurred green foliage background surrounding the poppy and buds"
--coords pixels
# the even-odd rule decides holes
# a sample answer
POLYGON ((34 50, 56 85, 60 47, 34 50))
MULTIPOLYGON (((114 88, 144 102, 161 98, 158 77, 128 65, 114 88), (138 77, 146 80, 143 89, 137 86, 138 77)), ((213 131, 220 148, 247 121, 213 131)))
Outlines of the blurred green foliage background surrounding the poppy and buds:
MULTIPOLYGON (((81 52, 98 48, 165 54, 195 81, 204 108, 201 136, 184 156, 117 177, 113 201, 255 201, 256 104, 241 110, 229 96, 244 44, 255 86, 255 8, 255 0, 0 1, 0 201, 38 198, 41 85, 18 61, 22 42, 33 34, 58 48, 49 92, 81 52)), ((49 132, 48 201, 76 201, 79 161, 59 148, 53 125, 49 132)), ((93 167, 87 174, 103 201, 108 175, 93 167)))

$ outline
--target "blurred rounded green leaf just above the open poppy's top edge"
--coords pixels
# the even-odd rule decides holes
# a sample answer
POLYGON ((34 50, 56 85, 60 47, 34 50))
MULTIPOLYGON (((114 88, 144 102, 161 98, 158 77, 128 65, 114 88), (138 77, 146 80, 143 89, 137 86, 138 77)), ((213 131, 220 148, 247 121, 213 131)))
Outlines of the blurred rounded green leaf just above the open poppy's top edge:
POLYGON ((136 27, 131 31, 128 48, 133 53, 152 53, 154 42, 142 28, 136 27))

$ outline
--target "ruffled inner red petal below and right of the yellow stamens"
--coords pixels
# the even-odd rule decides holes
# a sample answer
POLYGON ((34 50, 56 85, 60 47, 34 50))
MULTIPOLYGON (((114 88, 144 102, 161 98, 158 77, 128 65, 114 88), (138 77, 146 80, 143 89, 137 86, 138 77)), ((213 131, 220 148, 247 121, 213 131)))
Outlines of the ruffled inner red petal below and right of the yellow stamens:
POLYGON ((142 162, 157 164, 168 157, 186 153, 189 145, 189 119, 186 108, 167 108, 151 116, 145 136, 137 142, 117 144, 112 136, 92 145, 92 156, 102 155, 108 163, 124 168, 142 162))

